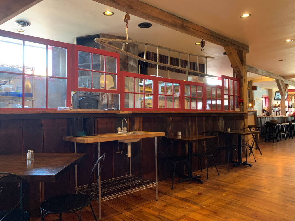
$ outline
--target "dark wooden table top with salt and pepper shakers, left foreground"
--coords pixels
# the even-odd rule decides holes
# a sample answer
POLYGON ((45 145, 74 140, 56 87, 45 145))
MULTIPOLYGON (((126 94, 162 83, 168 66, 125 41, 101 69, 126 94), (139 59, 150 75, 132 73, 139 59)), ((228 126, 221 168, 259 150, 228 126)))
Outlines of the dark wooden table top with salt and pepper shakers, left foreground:
POLYGON ((65 171, 78 164, 85 153, 34 153, 34 160, 27 154, 0 155, 0 171, 21 175, 27 181, 54 182, 65 171))

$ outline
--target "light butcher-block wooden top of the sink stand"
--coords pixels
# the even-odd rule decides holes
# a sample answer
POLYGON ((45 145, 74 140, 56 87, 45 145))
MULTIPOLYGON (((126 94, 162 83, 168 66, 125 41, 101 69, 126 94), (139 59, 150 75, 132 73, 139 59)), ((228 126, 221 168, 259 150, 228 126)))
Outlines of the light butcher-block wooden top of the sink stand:
POLYGON ((98 142, 105 142, 105 141, 117 141, 117 140, 123 140, 123 139, 165 136, 164 132, 149 132, 149 131, 136 131, 136 132, 143 132, 143 133, 140 133, 140 134, 101 133, 96 136, 63 137, 63 140, 82 143, 82 144, 89 144, 89 143, 98 143, 98 142))

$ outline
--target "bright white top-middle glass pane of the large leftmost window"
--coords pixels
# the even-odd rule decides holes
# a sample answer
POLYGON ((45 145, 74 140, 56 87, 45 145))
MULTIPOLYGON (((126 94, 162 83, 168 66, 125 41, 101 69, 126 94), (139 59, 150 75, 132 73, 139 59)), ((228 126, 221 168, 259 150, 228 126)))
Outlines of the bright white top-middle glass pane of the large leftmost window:
POLYGON ((46 45, 34 42, 24 42, 24 66, 26 74, 46 76, 46 45))

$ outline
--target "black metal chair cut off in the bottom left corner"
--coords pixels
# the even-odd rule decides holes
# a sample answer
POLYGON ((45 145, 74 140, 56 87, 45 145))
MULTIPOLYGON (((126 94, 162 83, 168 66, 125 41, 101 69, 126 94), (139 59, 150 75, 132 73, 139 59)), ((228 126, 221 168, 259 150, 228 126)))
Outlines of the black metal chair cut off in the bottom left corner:
POLYGON ((30 214, 24 210, 29 194, 25 179, 17 174, 0 172, 0 221, 27 221, 30 214), (7 206, 7 208, 5 208, 7 206))

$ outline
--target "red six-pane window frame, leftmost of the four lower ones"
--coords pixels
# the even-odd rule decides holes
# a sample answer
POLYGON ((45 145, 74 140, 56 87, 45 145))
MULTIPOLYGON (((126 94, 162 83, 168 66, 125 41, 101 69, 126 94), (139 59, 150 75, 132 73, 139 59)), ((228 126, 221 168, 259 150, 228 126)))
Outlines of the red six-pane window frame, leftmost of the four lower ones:
POLYGON ((125 71, 120 71, 120 75, 122 76, 122 85, 121 85, 121 90, 120 90, 120 110, 155 110, 155 78, 150 75, 142 75, 142 74, 137 74, 137 73, 130 73, 130 72, 125 72, 125 71), (133 77, 134 78, 134 90, 133 91, 125 91, 125 77, 133 77), (143 79, 144 83, 139 83, 143 85, 143 92, 135 92, 135 78, 143 79), (146 82, 147 80, 152 80, 153 81, 153 86, 152 86, 152 93, 145 93, 145 85, 148 84, 146 82), (125 107, 125 93, 127 94, 133 94, 133 108, 126 108, 125 107), (143 104, 145 104, 145 95, 151 95, 153 96, 153 102, 152 102, 152 108, 146 108, 145 105, 142 106, 142 108, 135 108, 135 95, 143 95, 143 104))

